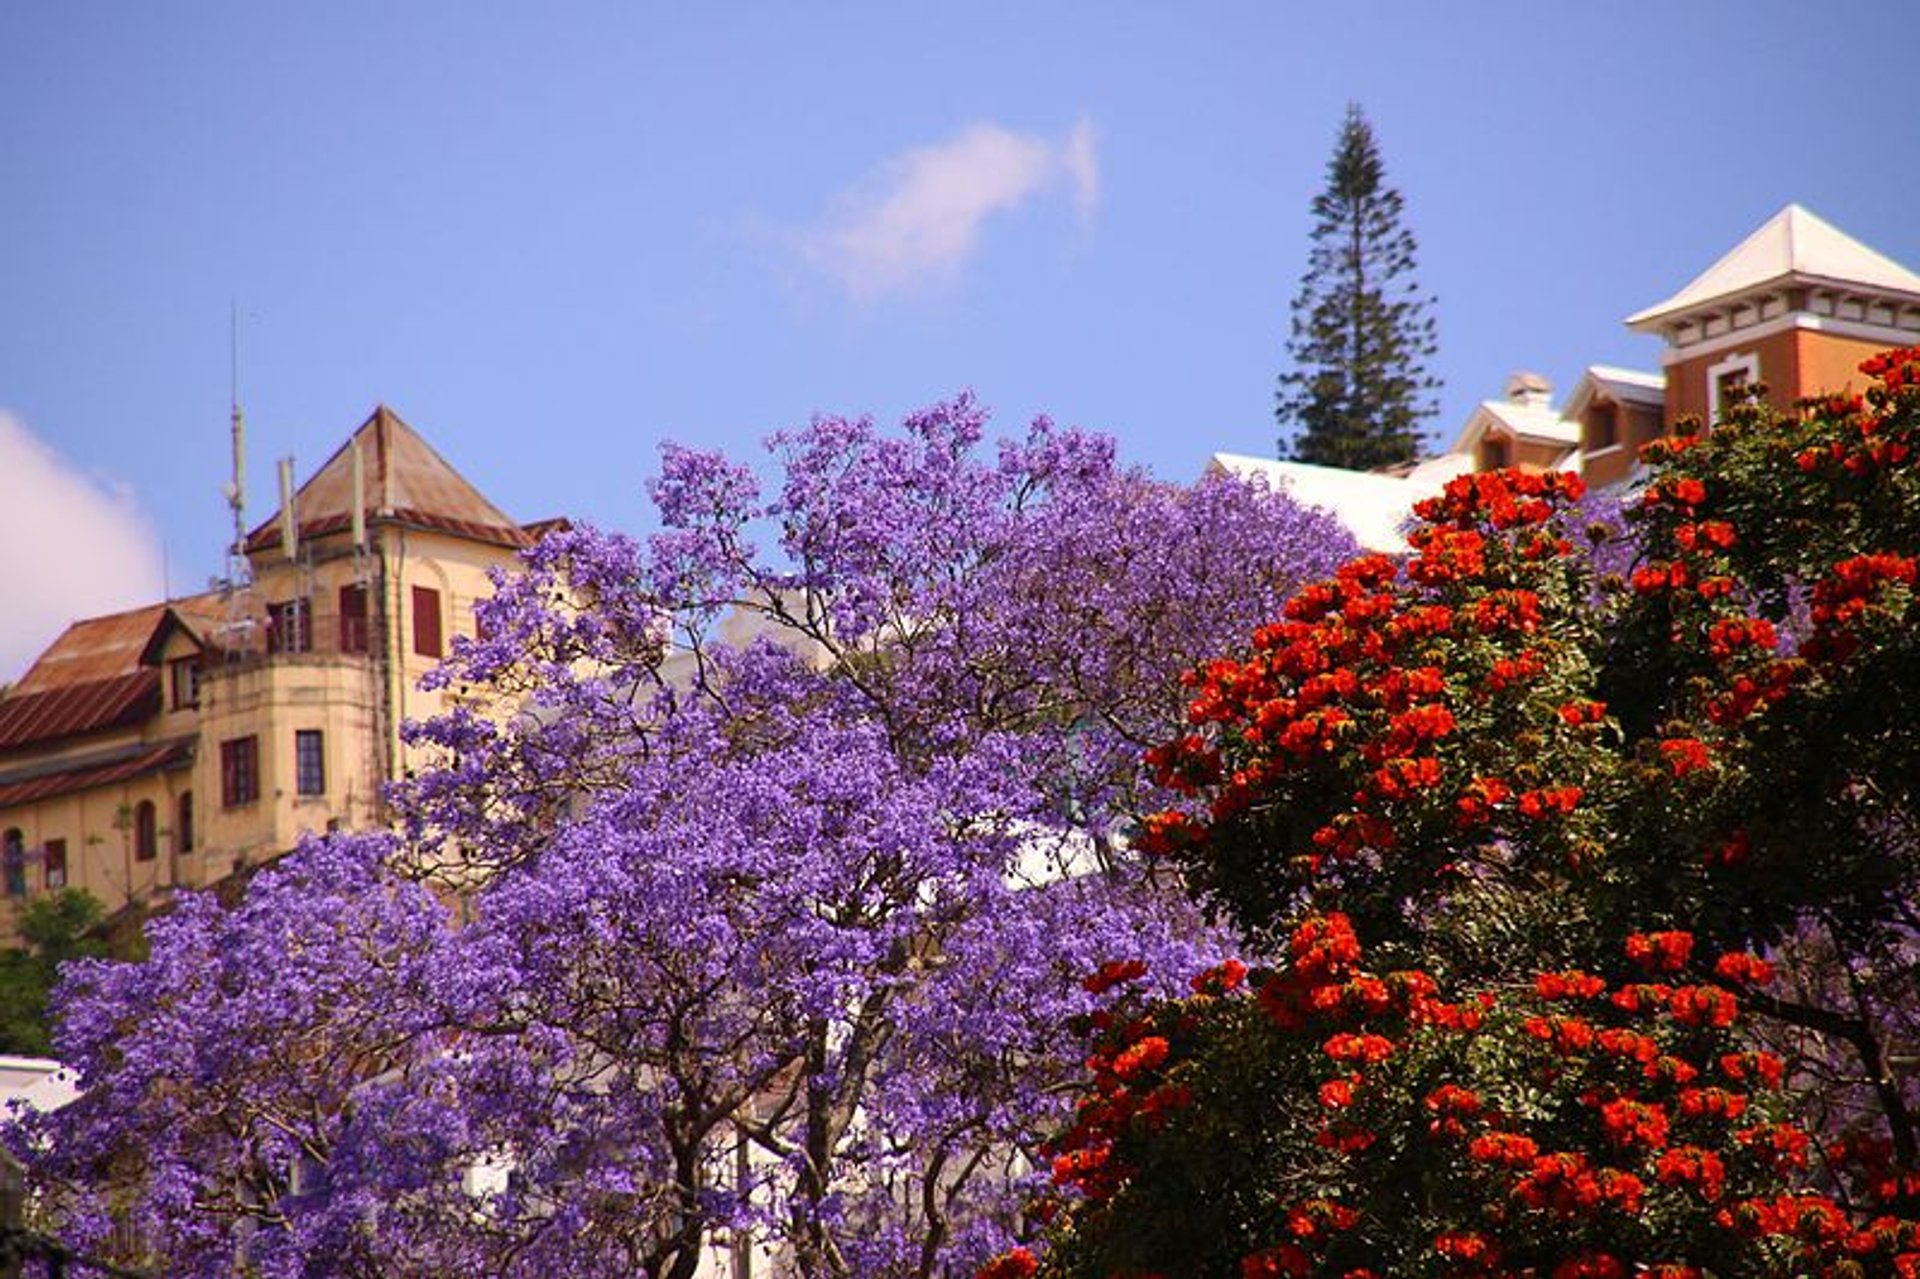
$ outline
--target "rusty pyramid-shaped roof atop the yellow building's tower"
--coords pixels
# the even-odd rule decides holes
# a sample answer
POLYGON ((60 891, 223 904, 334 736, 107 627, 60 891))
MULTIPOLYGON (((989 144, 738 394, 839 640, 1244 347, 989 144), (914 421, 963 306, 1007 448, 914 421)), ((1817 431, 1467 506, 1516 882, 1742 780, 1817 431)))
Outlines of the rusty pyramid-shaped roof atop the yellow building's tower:
MULTIPOLYGON (((413 524, 492 542, 530 545, 532 538, 480 495, 420 434, 384 403, 294 494, 300 536, 319 538, 353 526, 353 447, 359 446, 367 522, 413 524)), ((246 538, 248 551, 280 545, 280 513, 246 538)))

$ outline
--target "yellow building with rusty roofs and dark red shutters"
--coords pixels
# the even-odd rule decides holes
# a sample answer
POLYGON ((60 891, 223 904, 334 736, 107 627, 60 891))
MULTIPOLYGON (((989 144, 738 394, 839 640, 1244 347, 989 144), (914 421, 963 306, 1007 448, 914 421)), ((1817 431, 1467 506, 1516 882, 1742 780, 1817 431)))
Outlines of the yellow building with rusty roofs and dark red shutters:
POLYGON ((115 910, 380 824, 399 724, 445 705, 420 676, 540 532, 378 407, 230 590, 69 626, 0 697, 0 933, 38 893, 115 910))

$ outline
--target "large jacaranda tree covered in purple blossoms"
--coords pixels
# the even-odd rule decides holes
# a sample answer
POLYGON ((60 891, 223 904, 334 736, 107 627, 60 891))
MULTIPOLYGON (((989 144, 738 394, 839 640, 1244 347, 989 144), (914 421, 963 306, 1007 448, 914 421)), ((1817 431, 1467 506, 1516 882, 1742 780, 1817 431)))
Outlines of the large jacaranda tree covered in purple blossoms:
POLYGON ((50 1223, 169 1275, 950 1275, 1023 1229, 1117 956, 1223 945, 1125 833, 1177 676, 1352 555, 970 399, 822 419, 778 486, 668 451, 576 528, 340 837, 146 964, 75 966, 84 1097, 13 1131, 50 1223), (764 549, 762 549, 764 547, 764 549), (132 1227, 117 1229, 117 1227, 132 1227))

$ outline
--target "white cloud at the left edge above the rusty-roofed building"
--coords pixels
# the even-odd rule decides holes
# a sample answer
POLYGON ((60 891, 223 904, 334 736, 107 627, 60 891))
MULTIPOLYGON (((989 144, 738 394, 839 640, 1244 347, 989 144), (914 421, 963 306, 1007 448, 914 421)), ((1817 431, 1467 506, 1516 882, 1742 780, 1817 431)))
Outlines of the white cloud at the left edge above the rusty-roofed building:
POLYGON ((25 674, 67 622, 165 591, 159 542, 125 488, 75 471, 0 411, 0 682, 25 674))

